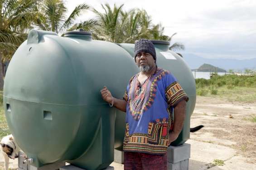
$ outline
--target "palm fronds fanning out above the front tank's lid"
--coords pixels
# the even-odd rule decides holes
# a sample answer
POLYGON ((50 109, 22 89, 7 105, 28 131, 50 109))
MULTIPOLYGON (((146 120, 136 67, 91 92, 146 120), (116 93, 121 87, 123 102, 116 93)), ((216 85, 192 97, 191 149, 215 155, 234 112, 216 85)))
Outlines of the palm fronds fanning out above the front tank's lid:
POLYGON ((90 30, 97 25, 97 21, 94 19, 74 24, 80 14, 90 9, 90 6, 85 3, 77 5, 68 17, 68 9, 64 0, 43 0, 38 8, 45 15, 38 20, 37 25, 46 31, 63 33, 66 30, 71 31, 78 28, 90 30))

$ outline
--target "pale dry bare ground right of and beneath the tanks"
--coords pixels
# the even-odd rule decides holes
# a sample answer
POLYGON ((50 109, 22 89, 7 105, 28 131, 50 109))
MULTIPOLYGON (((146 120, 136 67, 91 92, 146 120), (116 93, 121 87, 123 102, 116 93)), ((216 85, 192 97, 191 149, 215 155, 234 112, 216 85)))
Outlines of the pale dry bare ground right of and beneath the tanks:
MULTIPOLYGON (((250 121, 251 116, 256 116, 256 102, 198 96, 190 127, 203 124, 204 128, 190 133, 187 141, 191 144, 189 170, 256 170, 256 123, 250 121), (225 165, 211 166, 214 159, 225 165)), ((121 164, 111 165, 123 169, 121 164)), ((17 166, 17 159, 11 161, 11 170, 17 166)), ((0 170, 4 170, 2 156, 0 170)))

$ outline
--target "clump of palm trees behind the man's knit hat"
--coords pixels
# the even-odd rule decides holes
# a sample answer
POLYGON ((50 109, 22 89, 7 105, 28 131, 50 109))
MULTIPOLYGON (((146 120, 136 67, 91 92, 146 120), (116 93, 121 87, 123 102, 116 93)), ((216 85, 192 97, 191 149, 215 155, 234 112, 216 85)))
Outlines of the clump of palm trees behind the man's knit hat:
MULTIPOLYGON (((171 37, 164 35, 164 27, 161 24, 153 25, 150 16, 144 9, 131 9, 126 12, 122 10, 123 5, 111 9, 109 4, 102 5, 105 12, 96 9, 100 26, 95 27, 95 39, 111 41, 116 43, 134 43, 140 38, 171 41, 171 37)), ((184 45, 175 42, 169 47, 170 50, 184 50, 184 45)))

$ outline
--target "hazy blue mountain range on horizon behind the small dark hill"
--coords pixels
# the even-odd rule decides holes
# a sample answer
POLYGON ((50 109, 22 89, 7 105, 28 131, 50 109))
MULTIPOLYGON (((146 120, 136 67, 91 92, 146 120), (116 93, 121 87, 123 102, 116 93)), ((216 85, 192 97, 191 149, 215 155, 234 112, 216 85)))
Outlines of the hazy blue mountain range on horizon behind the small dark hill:
POLYGON ((184 60, 186 61, 186 63, 191 69, 197 69, 204 63, 208 63, 225 70, 256 69, 256 55, 254 59, 249 59, 249 60, 207 59, 207 58, 203 58, 198 55, 194 55, 190 53, 185 53, 182 55, 184 57, 184 60))

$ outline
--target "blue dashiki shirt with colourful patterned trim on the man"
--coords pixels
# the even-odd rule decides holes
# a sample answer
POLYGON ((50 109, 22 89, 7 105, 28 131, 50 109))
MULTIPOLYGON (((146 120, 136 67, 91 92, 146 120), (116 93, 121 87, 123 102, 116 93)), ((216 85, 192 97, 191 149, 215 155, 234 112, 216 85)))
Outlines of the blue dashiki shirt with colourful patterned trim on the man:
POLYGON ((138 75, 130 79, 123 97, 127 101, 123 149, 165 154, 174 107, 181 100, 188 101, 188 96, 167 70, 157 69, 141 86, 138 75))

